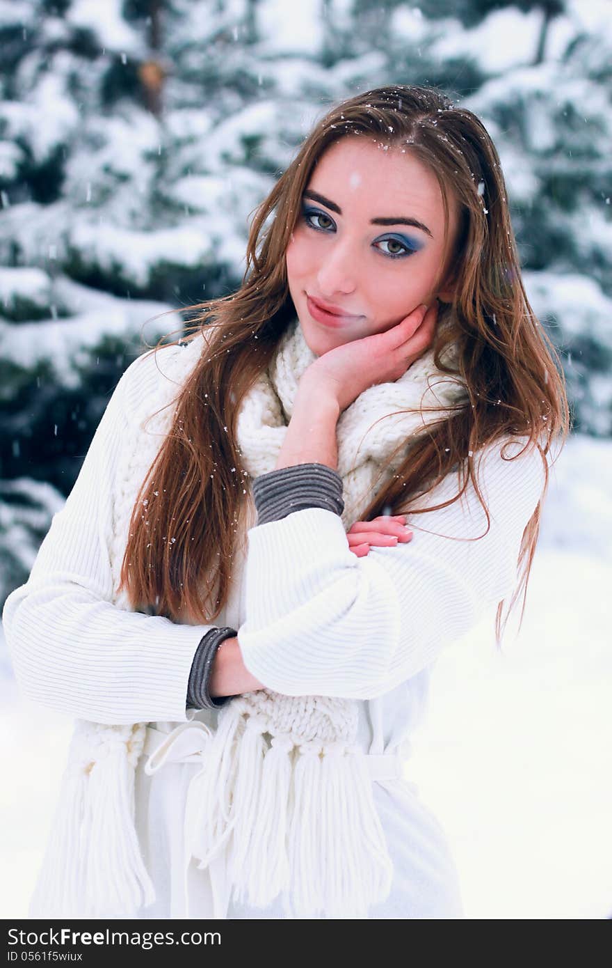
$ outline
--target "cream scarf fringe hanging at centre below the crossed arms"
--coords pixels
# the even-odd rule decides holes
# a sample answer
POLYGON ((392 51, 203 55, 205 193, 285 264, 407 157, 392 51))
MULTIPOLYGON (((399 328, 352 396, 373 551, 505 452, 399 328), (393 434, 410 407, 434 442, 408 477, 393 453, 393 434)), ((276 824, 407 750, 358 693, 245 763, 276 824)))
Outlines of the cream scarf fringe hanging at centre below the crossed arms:
POLYGON ((393 862, 363 750, 269 742, 267 725, 240 701, 219 716, 194 781, 190 852, 201 869, 225 850, 238 903, 265 908, 282 894, 289 917, 367 917, 391 892, 393 862))

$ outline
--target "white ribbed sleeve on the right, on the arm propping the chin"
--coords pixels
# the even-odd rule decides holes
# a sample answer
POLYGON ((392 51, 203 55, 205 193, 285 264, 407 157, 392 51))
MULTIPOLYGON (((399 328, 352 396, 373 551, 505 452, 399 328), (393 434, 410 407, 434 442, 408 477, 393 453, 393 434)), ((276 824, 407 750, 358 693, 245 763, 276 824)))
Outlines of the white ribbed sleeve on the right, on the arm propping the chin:
MULTIPOLYGON (((488 530, 471 481, 448 507, 407 512, 411 542, 363 558, 325 507, 249 529, 238 629, 248 671, 285 695, 354 699, 384 695, 420 672, 515 586, 523 531, 544 483, 537 449, 505 459, 524 442, 506 439, 477 455, 488 530)), ((415 506, 452 499, 457 489, 450 474, 415 506)))

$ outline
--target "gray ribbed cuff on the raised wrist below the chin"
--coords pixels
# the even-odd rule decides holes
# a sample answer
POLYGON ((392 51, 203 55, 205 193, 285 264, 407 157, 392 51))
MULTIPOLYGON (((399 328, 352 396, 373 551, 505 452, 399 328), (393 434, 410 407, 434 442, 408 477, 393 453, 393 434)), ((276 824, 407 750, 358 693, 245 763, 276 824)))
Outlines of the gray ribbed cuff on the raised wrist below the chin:
POLYGON ((278 521, 306 507, 323 507, 340 515, 344 510, 342 491, 341 476, 327 464, 312 462, 270 470, 252 483, 257 524, 278 521))

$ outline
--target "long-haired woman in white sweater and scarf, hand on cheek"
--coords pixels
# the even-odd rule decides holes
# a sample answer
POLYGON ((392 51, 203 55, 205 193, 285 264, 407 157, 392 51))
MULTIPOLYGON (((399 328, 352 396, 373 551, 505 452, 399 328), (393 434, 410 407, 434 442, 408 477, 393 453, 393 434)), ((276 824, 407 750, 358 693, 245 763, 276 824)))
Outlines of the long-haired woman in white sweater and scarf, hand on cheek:
POLYGON ((128 368, 5 605, 77 720, 31 914, 461 918, 402 758, 491 603, 499 644, 568 433, 495 148, 434 89, 351 98, 247 264, 128 368))

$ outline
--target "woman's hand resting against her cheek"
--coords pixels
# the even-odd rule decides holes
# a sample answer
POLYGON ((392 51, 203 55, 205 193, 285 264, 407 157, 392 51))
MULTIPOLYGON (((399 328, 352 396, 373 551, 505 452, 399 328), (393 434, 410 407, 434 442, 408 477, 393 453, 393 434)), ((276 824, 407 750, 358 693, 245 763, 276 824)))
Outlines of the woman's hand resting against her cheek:
POLYGON ((438 313, 437 300, 419 306, 384 333, 351 340, 323 353, 302 379, 331 394, 340 412, 376 383, 394 382, 431 345, 438 313))

